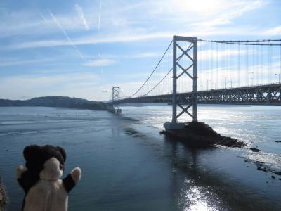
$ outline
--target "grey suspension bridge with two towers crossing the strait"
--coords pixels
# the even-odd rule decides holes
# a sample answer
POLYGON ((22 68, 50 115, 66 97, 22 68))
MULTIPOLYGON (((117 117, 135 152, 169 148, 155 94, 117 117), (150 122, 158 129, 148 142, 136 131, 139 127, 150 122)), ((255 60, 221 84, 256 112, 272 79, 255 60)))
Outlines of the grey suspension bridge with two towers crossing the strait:
POLYGON ((172 119, 164 127, 181 129, 181 115, 197 121, 197 104, 281 106, 280 75, 281 39, 216 41, 174 36, 133 94, 126 96, 121 87, 112 87, 107 108, 121 113, 123 103, 169 103, 172 119))

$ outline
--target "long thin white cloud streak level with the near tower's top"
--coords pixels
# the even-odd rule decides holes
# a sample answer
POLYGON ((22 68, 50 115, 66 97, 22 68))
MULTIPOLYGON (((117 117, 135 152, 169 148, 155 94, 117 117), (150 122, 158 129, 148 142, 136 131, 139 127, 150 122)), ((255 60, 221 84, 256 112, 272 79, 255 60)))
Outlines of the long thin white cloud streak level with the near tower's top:
MULTIPOLYGON (((279 27, 276 29, 271 29, 272 32, 279 33, 279 27)), ((240 27, 240 28, 224 28, 224 29, 200 29, 200 30, 190 30, 190 32, 181 32, 178 35, 187 36, 187 37, 205 37, 205 36, 214 36, 214 35, 241 35, 241 32, 244 32, 244 36, 264 36, 268 34, 268 30, 258 30, 249 27, 240 27)), ((133 34, 133 32, 120 32, 119 34, 112 35, 108 34, 103 36, 96 35, 91 37, 79 37, 72 40, 61 40, 61 39, 50 39, 50 40, 41 40, 41 41, 22 41, 20 43, 11 44, 8 46, 1 46, 1 50, 14 50, 14 49, 30 49, 30 48, 41 48, 46 46, 75 46, 77 49, 79 45, 87 44, 109 44, 109 43, 129 43, 134 41, 147 41, 151 39, 172 39, 174 32, 148 32, 143 34, 133 34)), ((268 34, 269 35, 269 34, 268 34)), ((272 35, 272 34, 271 34, 272 35)), ((81 53, 80 53, 81 54, 81 53)))

